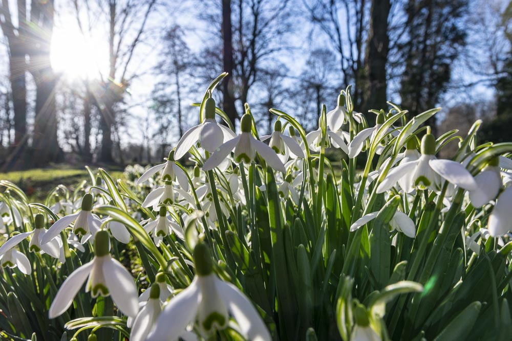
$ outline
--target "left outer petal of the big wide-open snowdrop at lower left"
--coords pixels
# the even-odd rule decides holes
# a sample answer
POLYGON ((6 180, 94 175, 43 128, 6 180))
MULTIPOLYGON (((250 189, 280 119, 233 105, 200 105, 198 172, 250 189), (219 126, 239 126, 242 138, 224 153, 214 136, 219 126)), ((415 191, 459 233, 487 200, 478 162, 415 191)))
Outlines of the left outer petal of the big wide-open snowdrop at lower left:
POLYGON ((68 310, 71 303, 73 303, 73 299, 75 298, 78 290, 80 290, 83 282, 85 282, 89 276, 93 263, 94 260, 80 266, 78 269, 73 271, 64 283, 62 283, 59 291, 57 291, 57 295, 55 295, 55 299, 53 299, 52 305, 50 306, 50 319, 55 319, 55 317, 68 310))

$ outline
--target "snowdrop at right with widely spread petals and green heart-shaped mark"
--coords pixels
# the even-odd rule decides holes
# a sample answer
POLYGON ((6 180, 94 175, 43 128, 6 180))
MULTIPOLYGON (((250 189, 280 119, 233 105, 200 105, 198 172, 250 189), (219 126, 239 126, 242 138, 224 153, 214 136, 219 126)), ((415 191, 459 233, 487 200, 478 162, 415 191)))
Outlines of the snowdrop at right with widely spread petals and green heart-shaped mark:
POLYGON ((391 169, 377 187, 377 193, 382 193, 393 186, 402 177, 412 174, 404 190, 416 188, 420 190, 430 189, 439 191, 442 186, 442 178, 449 183, 465 190, 472 191, 477 188, 475 179, 467 169, 455 161, 438 160, 434 155, 436 150, 435 138, 432 134, 425 134, 421 140, 421 156, 416 161, 410 161, 391 169))

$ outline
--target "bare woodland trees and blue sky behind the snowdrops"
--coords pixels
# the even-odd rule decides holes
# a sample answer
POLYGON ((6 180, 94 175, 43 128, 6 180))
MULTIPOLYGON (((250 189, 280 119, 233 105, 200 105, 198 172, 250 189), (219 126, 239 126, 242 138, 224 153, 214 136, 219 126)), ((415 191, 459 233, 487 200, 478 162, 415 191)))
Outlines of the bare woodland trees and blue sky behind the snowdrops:
POLYGON ((234 124, 248 102, 264 131, 271 107, 313 129, 352 84, 358 111, 442 104, 434 132, 482 118, 487 139, 509 140, 511 24, 504 0, 2 0, 0 167, 157 160, 223 71, 215 96, 234 124), (64 19, 102 39, 103 69, 54 70, 64 19))

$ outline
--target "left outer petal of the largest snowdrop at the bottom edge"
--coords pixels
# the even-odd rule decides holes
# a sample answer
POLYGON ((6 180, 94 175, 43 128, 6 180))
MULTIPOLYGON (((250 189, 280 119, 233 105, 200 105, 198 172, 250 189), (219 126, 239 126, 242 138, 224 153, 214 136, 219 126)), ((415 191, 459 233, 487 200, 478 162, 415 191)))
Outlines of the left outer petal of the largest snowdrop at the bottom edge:
POLYGON ((165 305, 158 316, 155 328, 146 341, 177 340, 190 322, 196 317, 199 305, 199 287, 197 277, 185 290, 165 305))

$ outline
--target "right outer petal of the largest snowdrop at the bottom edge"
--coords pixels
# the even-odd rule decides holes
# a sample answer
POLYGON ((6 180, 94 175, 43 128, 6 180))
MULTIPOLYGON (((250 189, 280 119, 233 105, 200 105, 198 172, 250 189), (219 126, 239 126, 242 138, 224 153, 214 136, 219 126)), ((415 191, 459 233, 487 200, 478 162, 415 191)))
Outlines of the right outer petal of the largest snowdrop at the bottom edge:
POLYGON ((219 295, 227 303, 229 311, 245 336, 252 341, 270 341, 272 339, 256 308, 236 286, 217 278, 216 286, 219 295))

